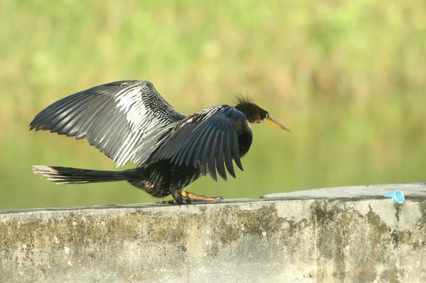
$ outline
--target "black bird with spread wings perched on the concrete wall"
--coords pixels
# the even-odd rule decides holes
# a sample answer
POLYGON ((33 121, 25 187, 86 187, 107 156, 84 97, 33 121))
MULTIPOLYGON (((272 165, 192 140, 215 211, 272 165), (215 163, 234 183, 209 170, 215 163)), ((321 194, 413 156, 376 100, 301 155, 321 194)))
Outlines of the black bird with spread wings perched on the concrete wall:
POLYGON ((232 160, 243 170, 240 158, 252 142, 249 123, 261 122, 287 130, 247 99, 185 116, 151 82, 111 82, 56 101, 35 116, 30 130, 87 138, 117 167, 137 167, 120 172, 38 165, 33 171, 59 184, 127 181, 156 197, 171 194, 177 204, 217 201, 183 188, 207 172, 214 180, 217 173, 226 180, 226 170, 235 177, 232 160))

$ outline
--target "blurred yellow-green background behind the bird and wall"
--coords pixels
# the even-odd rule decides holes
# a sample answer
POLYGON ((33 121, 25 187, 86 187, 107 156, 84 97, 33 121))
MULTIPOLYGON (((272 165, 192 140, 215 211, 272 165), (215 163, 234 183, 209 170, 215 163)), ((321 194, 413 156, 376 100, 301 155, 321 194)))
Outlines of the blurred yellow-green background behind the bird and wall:
POLYGON ((153 82, 187 114, 249 95, 293 131, 253 125, 244 172, 201 178, 190 192, 426 181, 423 0, 6 0, 0 58, 0 209, 155 201, 125 182, 55 185, 31 172, 115 169, 85 140, 28 123, 64 96, 122 79, 153 82))

